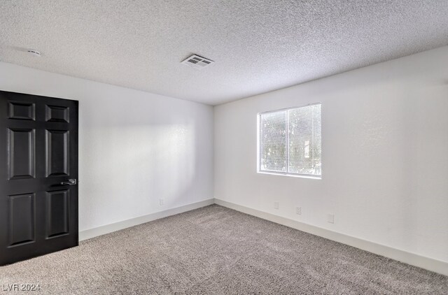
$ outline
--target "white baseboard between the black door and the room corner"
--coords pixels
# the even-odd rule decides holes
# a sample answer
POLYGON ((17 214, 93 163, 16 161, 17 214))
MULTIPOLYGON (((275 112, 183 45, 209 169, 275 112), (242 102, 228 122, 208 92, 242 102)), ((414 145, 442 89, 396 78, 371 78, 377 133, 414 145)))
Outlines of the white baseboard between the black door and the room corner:
POLYGON ((214 199, 208 199, 205 201, 200 201, 197 203, 191 203, 185 206, 176 207, 156 213, 151 213, 148 215, 132 218, 130 220, 123 220, 121 222, 116 222, 113 224, 107 224, 104 226, 95 227, 94 229, 87 229, 85 231, 79 232, 79 240, 87 240, 89 238, 94 238, 96 236, 102 236, 106 233, 111 233, 113 231, 120 231, 121 229, 127 229, 131 226, 136 226, 146 222, 151 222, 153 220, 158 220, 163 217, 168 217, 171 215, 176 215, 179 213, 184 213, 190 210, 195 210, 197 208, 205 207, 214 204, 214 199))

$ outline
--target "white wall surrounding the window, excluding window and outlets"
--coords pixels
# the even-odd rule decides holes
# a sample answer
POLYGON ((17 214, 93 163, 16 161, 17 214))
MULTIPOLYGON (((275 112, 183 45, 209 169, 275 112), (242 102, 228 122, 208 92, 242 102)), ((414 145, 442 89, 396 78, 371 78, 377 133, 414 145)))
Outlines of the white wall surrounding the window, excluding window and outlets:
POLYGON ((215 198, 448 261, 447 64, 443 47, 217 106, 215 198), (322 180, 256 173, 257 113, 318 101, 322 180))

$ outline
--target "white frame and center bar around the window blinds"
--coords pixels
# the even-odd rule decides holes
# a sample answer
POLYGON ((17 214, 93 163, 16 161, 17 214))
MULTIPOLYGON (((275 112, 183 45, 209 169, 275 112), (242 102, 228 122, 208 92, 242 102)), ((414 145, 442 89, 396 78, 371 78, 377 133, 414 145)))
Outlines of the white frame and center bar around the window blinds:
MULTIPOLYGON (((289 107, 289 108, 279 108, 276 110, 267 110, 265 112, 260 112, 257 114, 257 173, 260 174, 269 174, 269 175, 284 175, 284 176, 290 176, 290 177, 295 177, 295 178, 309 178, 309 179, 316 179, 316 180, 321 180, 322 179, 322 166, 321 166, 321 175, 312 175, 312 174, 305 174, 305 173, 293 173, 293 172, 281 172, 281 171, 269 171, 269 170, 261 170, 261 146, 260 146, 260 137, 261 137, 261 116, 265 115, 265 114, 269 114, 269 113, 277 113, 277 112, 281 112, 281 111, 286 111, 288 112, 288 110, 292 110, 295 108, 304 108, 307 106, 315 106, 315 105, 321 105, 321 148, 323 149, 323 141, 322 141, 322 103, 321 102, 316 102, 316 103, 308 103, 306 105, 303 106, 293 106, 293 107, 289 107)), ((288 146, 289 143, 289 120, 288 118, 286 119, 286 130, 288 130, 288 132, 286 132, 286 146, 288 146)), ((322 162, 322 158, 323 158, 323 153, 321 152, 321 162, 322 162)), ((289 152, 286 152, 286 165, 288 166, 289 164, 289 152)))

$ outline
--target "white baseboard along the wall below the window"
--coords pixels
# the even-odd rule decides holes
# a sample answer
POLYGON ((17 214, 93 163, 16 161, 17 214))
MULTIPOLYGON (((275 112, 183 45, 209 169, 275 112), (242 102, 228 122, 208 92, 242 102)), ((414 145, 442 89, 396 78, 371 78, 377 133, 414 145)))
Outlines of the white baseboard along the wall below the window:
POLYGON ((336 242, 350 245, 352 247, 356 247, 361 250, 372 252, 374 254, 378 254, 391 259, 395 259, 404 262, 405 264, 425 268, 428 271, 441 273, 442 275, 448 275, 448 262, 432 259, 429 257, 423 257, 419 254, 414 254, 404 250, 395 249, 393 247, 388 247, 386 245, 377 244, 374 242, 370 242, 369 240, 363 240, 353 236, 348 236, 344 233, 329 231, 328 229, 323 229, 318 226, 298 222, 296 220, 290 220, 289 218, 286 217, 281 217, 260 210, 255 210, 245 206, 237 205, 235 203, 230 203, 228 201, 215 199, 215 203, 223 207, 227 207, 242 213, 246 213, 248 215, 260 217, 264 220, 269 220, 271 222, 292 227, 293 229, 298 229, 300 231, 311 233, 316 236, 321 236, 322 238, 328 238, 328 240, 335 240, 336 242))

